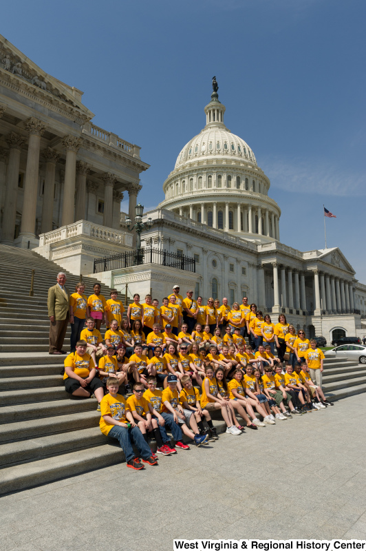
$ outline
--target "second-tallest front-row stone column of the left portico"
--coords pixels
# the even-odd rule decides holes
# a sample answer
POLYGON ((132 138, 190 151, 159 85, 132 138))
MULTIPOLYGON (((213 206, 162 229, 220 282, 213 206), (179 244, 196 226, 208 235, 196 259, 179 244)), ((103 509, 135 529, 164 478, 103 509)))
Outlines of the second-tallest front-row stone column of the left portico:
POLYGON ((66 164, 61 225, 67 226, 74 224, 76 154, 80 149, 81 139, 68 134, 63 138, 62 144, 66 149, 66 164))

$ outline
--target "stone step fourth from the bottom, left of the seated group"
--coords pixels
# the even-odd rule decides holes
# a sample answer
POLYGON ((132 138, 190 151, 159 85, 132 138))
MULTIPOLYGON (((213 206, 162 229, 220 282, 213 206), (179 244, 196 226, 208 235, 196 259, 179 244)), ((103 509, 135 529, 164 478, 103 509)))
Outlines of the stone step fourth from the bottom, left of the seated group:
POLYGON ((39 419, 68 415, 80 411, 96 410, 98 402, 95 398, 52 400, 51 402, 36 402, 34 404, 13 404, 0 408, 0 424, 14 423, 23 419, 39 419))

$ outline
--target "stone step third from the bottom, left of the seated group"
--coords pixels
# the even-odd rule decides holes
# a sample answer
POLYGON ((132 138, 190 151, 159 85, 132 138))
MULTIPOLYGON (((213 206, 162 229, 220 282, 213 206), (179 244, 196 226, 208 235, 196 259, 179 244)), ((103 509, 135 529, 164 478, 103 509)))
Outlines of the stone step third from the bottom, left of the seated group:
POLYGON ((96 404, 89 411, 65 413, 64 415, 56 415, 56 417, 22 419, 18 422, 0 425, 0 443, 66 433, 71 430, 80 430, 80 428, 96 427, 99 424, 99 419, 100 413, 96 410, 96 404))

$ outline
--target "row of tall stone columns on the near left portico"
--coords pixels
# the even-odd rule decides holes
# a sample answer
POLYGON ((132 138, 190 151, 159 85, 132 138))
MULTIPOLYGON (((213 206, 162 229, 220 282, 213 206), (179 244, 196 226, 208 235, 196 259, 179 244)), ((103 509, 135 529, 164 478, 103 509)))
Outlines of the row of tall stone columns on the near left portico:
MULTIPOLYGON (((25 128, 29 133, 29 141, 24 179, 21 231, 19 237, 30 240, 35 238, 41 136, 45 131, 45 125, 42 121, 31 117, 26 121, 25 128)), ((12 132, 6 137, 6 142, 9 147, 9 158, 8 170, 6 171, 6 195, 1 242, 12 245, 14 242, 15 218, 17 216, 17 192, 21 149, 25 144, 25 139, 20 134, 12 132)), ((66 150, 66 162, 61 226, 73 224, 75 220, 82 220, 85 218, 87 174, 89 174, 90 167, 84 161, 79 160, 76 162, 76 155, 81 143, 81 138, 72 135, 65 136, 62 140, 63 147, 65 147, 66 150)), ((52 231, 55 172, 59 155, 52 147, 46 147, 42 152, 42 157, 45 160, 45 187, 43 194, 41 233, 47 233, 47 231, 52 231)), ((105 185, 103 225, 112 227, 114 183, 116 182, 116 177, 113 174, 106 173, 102 176, 102 180, 105 185)), ((133 218, 135 216, 134 207, 136 207, 136 198, 139 190, 139 185, 131 185, 131 189, 129 189, 129 209, 133 214, 133 218)))

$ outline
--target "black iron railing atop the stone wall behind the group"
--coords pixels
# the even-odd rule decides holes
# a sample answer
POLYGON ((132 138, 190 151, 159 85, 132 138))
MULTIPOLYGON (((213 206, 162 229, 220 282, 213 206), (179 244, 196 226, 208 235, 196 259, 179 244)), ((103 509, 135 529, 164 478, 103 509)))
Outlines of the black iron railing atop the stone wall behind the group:
POLYGON ((95 258, 94 273, 130 268, 139 266, 140 264, 159 264, 160 266, 195 273, 195 258, 148 247, 142 247, 141 249, 126 253, 112 254, 104 258, 95 258))

